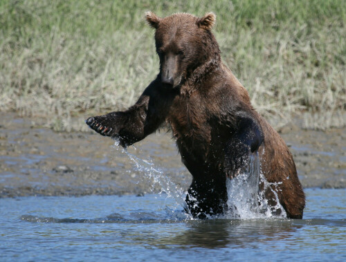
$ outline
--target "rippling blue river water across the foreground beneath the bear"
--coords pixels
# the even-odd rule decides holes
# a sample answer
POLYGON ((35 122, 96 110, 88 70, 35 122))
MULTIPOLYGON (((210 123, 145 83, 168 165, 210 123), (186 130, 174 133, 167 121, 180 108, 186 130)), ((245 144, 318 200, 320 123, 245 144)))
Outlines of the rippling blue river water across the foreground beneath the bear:
POLYGON ((306 194, 303 220, 196 221, 165 194, 1 198, 1 261, 345 261, 346 189, 306 194))

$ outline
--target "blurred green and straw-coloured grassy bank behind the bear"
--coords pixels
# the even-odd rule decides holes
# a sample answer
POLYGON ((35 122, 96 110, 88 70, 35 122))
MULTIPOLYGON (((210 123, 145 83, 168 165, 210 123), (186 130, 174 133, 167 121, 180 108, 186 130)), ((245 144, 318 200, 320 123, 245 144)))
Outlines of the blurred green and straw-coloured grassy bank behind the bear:
POLYGON ((262 114, 322 115, 311 125, 339 115, 345 124, 346 6, 339 0, 2 0, 0 111, 42 116, 69 131, 82 127, 71 125, 75 115, 134 103, 158 73, 147 10, 215 12, 224 62, 262 114))

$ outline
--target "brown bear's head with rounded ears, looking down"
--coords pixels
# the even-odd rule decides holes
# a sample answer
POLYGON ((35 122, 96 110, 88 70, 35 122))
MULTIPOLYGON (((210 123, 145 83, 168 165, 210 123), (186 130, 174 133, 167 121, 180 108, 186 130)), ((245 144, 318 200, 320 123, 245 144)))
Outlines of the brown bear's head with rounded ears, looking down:
POLYGON ((160 57, 164 86, 177 88, 192 77, 197 68, 219 62, 219 46, 211 32, 216 19, 214 13, 209 12, 201 18, 186 13, 161 18, 147 12, 146 19, 156 30, 156 53, 160 57))

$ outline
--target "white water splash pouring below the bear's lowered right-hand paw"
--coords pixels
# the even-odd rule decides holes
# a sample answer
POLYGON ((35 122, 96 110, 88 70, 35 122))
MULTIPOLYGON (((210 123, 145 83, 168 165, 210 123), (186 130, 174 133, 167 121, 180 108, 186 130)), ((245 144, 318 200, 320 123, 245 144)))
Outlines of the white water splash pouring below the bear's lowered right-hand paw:
POLYGON ((286 218, 286 212, 279 203, 277 193, 272 189, 277 183, 268 183, 261 171, 260 156, 250 157, 248 169, 232 180, 227 179, 228 219, 286 218), (260 184, 264 189, 260 190, 260 184), (275 206, 269 205, 264 192, 273 191, 275 206))

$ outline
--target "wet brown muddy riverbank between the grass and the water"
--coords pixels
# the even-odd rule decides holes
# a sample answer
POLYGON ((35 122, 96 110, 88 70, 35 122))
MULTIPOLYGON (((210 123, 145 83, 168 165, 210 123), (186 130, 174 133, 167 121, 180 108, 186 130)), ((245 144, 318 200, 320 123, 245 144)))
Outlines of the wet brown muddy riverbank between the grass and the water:
MULTIPOLYGON (((83 119, 78 119, 83 121, 83 119)), ((156 193, 155 178, 136 170, 129 156, 93 131, 55 133, 39 119, 9 113, 0 120, 0 197, 156 193), (153 185, 154 184, 154 185, 153 185)), ((346 187, 346 129, 306 131, 295 125, 280 133, 293 153, 304 187, 346 187)), ((188 188, 170 133, 150 135, 129 153, 154 162, 173 183, 188 188)))

